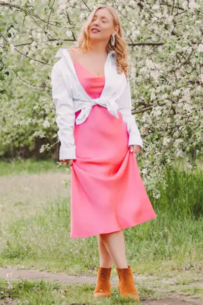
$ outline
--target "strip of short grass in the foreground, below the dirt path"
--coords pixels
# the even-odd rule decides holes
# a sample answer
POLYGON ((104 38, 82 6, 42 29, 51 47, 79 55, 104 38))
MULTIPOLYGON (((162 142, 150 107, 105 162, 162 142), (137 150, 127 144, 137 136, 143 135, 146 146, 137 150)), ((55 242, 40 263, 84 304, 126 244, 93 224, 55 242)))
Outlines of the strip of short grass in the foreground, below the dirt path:
MULTIPOLYGON (((186 272, 187 273, 187 272, 186 272)), ((160 274, 160 273, 159 273, 160 274)), ((193 273, 193 281, 199 280, 193 273)), ((0 278, 0 301, 1 298, 6 300, 18 300, 20 304, 80 304, 80 305, 95 305, 95 304, 136 304, 142 303, 146 299, 163 299, 165 293, 178 293, 180 296, 189 296, 193 299, 203 299, 203 289, 198 285, 190 284, 191 273, 188 272, 188 282, 184 274, 179 272, 179 279, 184 279, 184 284, 180 282, 165 283, 168 273, 162 274, 161 281, 158 277, 155 279, 146 278, 141 281, 139 278, 136 281, 141 302, 135 302, 130 298, 124 298, 119 295, 118 288, 111 287, 111 298, 95 299, 93 291, 95 285, 92 283, 67 285, 58 282, 47 282, 44 280, 29 281, 10 281, 10 278, 0 278)), ((170 272, 170 276, 171 276, 170 272)), ((180 298, 179 298, 180 299, 180 298)), ((0 302, 1 303, 1 302, 0 302)), ((164 302, 163 302, 164 303, 164 302)))

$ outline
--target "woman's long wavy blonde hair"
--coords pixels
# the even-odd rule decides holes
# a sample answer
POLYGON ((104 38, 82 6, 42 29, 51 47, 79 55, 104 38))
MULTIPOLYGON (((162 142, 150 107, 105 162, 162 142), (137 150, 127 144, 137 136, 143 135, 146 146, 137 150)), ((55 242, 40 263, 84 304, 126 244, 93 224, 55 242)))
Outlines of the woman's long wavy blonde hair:
POLYGON ((95 8, 90 13, 90 15, 87 18, 87 21, 81 28, 81 31, 79 33, 79 37, 77 40, 77 45, 68 48, 68 50, 71 50, 73 48, 74 49, 81 48, 84 50, 84 52, 87 51, 89 41, 90 41, 90 37, 88 34, 89 25, 92 22, 92 19, 94 17, 94 14, 96 13, 96 11, 99 9, 103 9, 103 8, 107 9, 111 13, 111 15, 113 17, 114 26, 116 26, 116 25, 119 26, 118 33, 115 35, 115 45, 112 46, 111 38, 110 38, 108 45, 107 45, 107 51, 112 51, 112 50, 116 51, 117 72, 118 73, 124 72, 125 77, 127 79, 127 77, 128 77, 128 55, 127 55, 126 43, 123 38, 119 15, 118 15, 117 11, 112 7, 104 5, 104 6, 99 6, 99 7, 95 8))

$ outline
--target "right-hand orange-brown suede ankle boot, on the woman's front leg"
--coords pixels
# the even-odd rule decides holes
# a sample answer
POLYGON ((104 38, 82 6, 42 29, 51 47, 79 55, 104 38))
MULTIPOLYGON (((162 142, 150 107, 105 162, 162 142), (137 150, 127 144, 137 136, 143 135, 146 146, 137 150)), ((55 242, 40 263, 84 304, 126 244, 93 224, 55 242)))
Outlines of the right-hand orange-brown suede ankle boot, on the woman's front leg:
POLYGON ((118 289, 120 295, 130 296, 134 300, 139 301, 140 298, 136 289, 136 285, 134 284, 131 267, 128 266, 128 268, 116 268, 116 270, 119 277, 118 289))

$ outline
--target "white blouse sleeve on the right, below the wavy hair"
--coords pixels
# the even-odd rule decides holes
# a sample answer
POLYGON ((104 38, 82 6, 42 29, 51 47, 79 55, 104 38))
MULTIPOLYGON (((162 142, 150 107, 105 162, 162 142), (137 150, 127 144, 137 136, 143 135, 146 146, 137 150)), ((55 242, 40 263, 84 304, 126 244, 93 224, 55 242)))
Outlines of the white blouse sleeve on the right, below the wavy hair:
POLYGON ((129 76, 128 81, 126 83, 125 89, 121 95, 121 98, 118 103, 118 110, 121 112, 123 121, 127 126, 127 131, 129 134, 129 145, 140 145, 143 149, 143 140, 140 135, 140 131, 138 129, 136 119, 132 115, 132 101, 131 101, 131 93, 130 93, 130 82, 129 76))

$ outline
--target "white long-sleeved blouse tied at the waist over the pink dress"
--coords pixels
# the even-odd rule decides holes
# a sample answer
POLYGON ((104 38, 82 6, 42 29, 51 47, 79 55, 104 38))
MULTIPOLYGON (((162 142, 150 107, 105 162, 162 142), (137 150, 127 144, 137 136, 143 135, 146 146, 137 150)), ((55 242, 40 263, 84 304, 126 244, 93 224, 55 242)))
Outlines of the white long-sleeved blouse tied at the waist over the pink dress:
POLYGON ((56 107, 56 124, 59 128, 58 137, 61 142, 59 160, 76 159, 74 127, 82 124, 88 117, 93 105, 106 107, 118 117, 117 110, 122 114, 129 134, 129 145, 140 145, 143 141, 134 116, 131 114, 132 102, 129 77, 116 70, 115 51, 109 51, 105 63, 105 85, 99 98, 91 99, 81 85, 71 56, 66 49, 60 48, 55 57, 61 57, 52 68, 52 97, 56 107), (77 119, 75 112, 81 110, 77 119))

